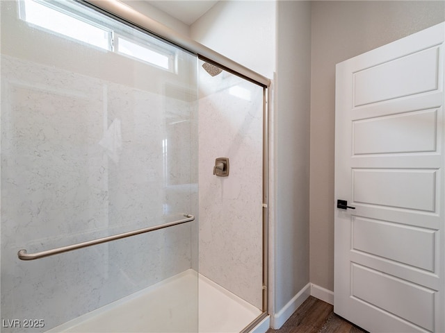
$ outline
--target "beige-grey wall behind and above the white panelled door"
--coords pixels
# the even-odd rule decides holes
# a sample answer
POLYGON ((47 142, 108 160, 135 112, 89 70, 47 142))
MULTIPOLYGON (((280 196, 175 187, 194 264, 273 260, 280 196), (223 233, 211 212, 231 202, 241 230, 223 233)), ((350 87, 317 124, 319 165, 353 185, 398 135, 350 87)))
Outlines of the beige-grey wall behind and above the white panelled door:
POLYGON ((445 20, 444 1, 312 2, 310 280, 334 289, 335 65, 445 20))

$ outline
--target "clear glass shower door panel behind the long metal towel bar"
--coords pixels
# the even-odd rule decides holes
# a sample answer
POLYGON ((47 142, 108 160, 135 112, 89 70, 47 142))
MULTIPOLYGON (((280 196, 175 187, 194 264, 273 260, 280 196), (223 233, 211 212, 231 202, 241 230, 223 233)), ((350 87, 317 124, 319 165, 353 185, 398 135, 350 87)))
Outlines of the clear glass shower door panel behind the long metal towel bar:
POLYGON ((197 59, 71 1, 0 6, 1 332, 197 332, 195 221, 17 257, 197 214, 197 59))

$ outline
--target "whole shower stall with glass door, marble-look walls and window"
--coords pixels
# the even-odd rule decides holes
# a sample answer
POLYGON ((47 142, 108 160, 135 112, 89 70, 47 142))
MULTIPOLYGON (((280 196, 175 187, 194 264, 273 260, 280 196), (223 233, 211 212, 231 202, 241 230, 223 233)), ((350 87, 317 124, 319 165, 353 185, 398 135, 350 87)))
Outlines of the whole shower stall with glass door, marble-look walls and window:
POLYGON ((85 3, 0 6, 1 332, 250 330, 265 88, 85 3))

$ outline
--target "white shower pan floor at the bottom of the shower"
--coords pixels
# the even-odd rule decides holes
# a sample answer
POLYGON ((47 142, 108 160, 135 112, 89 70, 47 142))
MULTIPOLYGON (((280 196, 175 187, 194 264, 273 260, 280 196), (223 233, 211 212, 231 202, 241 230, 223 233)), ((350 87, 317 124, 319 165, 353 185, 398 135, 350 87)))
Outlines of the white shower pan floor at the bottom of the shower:
POLYGON ((47 332, 238 333, 261 314, 192 269, 54 327, 47 332), (199 327, 199 330, 198 330, 199 327))

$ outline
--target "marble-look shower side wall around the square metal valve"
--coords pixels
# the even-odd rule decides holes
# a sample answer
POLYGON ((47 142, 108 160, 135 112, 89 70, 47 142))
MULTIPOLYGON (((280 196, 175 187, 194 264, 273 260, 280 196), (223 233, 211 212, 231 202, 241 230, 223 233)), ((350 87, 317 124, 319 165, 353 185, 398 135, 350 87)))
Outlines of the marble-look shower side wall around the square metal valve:
POLYGON ((261 309, 262 88, 200 70, 200 273, 261 309), (229 157, 229 176, 213 175, 229 157))

